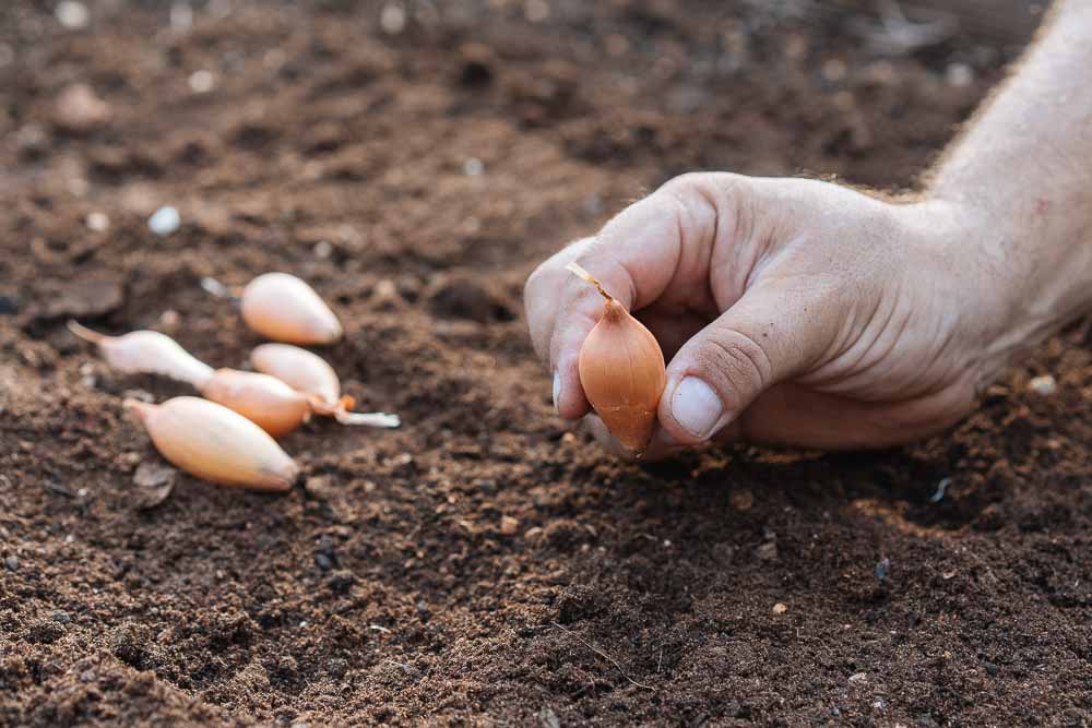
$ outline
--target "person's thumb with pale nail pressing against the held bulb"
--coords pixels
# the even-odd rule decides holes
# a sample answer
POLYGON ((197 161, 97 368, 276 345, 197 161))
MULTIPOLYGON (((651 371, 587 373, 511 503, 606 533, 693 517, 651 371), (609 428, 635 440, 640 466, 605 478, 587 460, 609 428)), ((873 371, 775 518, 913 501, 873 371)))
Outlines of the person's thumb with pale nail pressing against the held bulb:
POLYGON ((806 371, 835 334, 829 311, 814 291, 749 290, 672 359, 660 401, 664 429, 680 443, 704 442, 767 389, 806 371))

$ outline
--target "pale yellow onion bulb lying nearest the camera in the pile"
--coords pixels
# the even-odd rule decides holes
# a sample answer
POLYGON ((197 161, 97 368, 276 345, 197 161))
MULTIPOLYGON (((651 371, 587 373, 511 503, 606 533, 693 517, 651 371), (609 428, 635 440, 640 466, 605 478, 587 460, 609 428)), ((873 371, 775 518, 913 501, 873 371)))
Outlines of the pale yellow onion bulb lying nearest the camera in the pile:
POLYGON ((299 467, 260 427, 227 407, 200 397, 162 405, 126 399, 156 450, 202 480, 253 490, 288 490, 299 467))

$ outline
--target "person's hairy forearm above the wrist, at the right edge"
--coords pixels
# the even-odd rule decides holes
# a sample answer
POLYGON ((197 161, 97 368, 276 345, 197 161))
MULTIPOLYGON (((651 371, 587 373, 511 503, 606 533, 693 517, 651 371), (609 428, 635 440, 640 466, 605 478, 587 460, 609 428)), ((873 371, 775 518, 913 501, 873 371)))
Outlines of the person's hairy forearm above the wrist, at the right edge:
POLYGON ((935 171, 929 196, 971 222, 999 288, 1002 366, 1092 310, 1092 2, 1067 0, 935 171))

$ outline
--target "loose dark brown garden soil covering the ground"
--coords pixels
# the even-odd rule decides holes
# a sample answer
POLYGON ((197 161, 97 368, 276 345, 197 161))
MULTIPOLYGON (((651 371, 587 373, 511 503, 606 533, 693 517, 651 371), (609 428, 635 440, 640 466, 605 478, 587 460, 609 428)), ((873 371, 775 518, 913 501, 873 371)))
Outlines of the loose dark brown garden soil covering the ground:
POLYGON ((397 34, 342 0, 188 32, 90 4, 0 8, 0 724, 1092 720, 1087 327, 917 446, 638 467, 553 417, 521 319, 538 260, 676 172, 906 184, 1019 49, 899 57, 805 2, 414 0, 397 34), (73 82, 108 119, 55 109, 73 82), (269 270, 405 427, 317 422, 284 440, 306 488, 147 508, 121 395, 186 389, 64 319, 241 366, 198 282, 269 270))

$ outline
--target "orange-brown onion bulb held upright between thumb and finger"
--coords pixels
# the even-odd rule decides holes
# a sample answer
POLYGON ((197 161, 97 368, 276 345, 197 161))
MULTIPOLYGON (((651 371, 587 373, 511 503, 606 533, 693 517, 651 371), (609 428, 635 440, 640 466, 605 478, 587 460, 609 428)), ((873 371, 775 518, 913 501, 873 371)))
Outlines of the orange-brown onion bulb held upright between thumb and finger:
POLYGON ((569 271, 595 286, 606 303, 603 318, 580 348, 580 384, 596 414, 622 445, 644 452, 667 385, 656 337, 577 263, 569 271))

